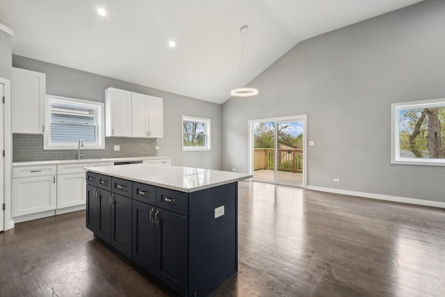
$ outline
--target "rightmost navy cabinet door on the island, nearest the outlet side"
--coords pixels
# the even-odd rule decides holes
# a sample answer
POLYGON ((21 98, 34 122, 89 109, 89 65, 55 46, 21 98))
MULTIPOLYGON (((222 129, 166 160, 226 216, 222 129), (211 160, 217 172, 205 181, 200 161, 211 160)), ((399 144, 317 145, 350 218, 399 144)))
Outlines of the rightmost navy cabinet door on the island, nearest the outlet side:
POLYGON ((156 278, 187 294, 187 217, 156 209, 156 278))

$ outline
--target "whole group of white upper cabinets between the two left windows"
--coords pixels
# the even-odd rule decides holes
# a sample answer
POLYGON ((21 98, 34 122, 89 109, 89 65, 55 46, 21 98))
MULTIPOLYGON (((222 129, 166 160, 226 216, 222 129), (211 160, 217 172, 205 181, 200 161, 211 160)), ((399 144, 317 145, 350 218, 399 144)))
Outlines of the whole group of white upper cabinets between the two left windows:
POLYGON ((162 98, 108 88, 105 113, 106 136, 163 137, 162 98))

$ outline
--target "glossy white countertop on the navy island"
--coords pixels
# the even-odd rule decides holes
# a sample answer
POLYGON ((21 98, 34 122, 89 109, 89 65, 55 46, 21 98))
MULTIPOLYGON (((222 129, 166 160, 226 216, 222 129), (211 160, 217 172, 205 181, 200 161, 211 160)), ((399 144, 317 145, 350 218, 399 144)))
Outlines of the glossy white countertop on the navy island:
POLYGON ((238 172, 155 164, 131 164, 86 168, 91 172, 191 193, 251 178, 238 172))

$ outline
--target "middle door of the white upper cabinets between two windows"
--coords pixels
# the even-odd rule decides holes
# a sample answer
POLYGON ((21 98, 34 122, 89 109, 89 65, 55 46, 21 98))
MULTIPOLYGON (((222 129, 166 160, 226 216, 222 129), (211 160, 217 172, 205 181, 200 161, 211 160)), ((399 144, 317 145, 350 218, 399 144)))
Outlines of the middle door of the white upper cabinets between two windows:
POLYGON ((133 137, 148 137, 148 95, 131 94, 131 129, 133 137))

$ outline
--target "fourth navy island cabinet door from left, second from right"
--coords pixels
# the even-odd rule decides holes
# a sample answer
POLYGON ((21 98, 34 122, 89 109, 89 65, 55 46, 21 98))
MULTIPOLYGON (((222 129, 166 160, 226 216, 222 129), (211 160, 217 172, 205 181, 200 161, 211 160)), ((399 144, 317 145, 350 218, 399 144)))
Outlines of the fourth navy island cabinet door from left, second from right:
POLYGON ((131 259, 154 275, 156 225, 154 206, 133 200, 133 250, 131 259))

